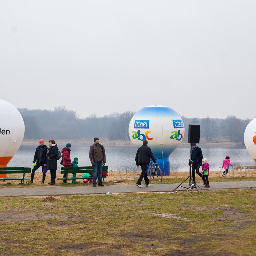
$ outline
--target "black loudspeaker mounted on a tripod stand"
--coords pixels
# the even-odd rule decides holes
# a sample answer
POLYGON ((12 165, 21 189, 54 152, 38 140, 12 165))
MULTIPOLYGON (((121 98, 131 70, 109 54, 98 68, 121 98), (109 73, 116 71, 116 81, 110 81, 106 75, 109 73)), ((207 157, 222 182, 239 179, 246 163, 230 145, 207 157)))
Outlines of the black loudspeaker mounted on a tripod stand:
MULTIPOLYGON (((191 158, 192 158, 192 147, 191 144, 198 144, 200 141, 200 124, 188 124, 188 143, 190 144, 190 158, 189 158, 189 176, 186 180, 189 179, 189 188, 181 186, 186 180, 184 180, 180 185, 177 187, 182 187, 182 188, 196 188, 197 192, 199 193, 195 181, 191 177, 191 158), (192 181, 192 182, 191 182, 192 181)), ((175 191, 177 188, 173 189, 175 191)))

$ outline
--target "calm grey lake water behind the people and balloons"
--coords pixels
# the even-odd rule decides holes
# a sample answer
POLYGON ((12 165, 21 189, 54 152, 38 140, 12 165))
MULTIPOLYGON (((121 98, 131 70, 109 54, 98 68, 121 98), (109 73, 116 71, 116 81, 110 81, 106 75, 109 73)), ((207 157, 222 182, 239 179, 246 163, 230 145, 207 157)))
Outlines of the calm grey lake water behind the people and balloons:
MULTIPOLYGON (((59 149, 63 148, 63 145, 58 146, 59 149)), ((79 159, 79 166, 91 165, 89 159, 89 146, 72 146, 70 156, 73 159, 75 156, 79 159)), ((218 171, 222 165, 222 161, 228 155, 230 156, 230 162, 233 165, 255 165, 255 161, 247 152, 246 148, 204 148, 202 152, 203 157, 208 159, 209 167, 211 171, 218 171)), ((19 150, 13 156, 12 160, 7 166, 25 166, 33 167, 33 158, 35 155, 36 146, 20 146, 19 150)), ((105 147, 106 150, 106 165, 108 170, 116 171, 117 169, 123 171, 128 169, 132 171, 136 168, 135 155, 137 148, 134 146, 105 147)), ((153 152, 154 153, 154 152, 153 152)), ((176 148, 170 155, 170 172, 189 171, 188 160, 190 154, 190 147, 188 148, 176 148)), ((58 171, 62 165, 58 161, 58 171)), ((41 170, 38 169, 40 172, 41 170)), ((139 169, 136 168, 139 171, 139 169)))

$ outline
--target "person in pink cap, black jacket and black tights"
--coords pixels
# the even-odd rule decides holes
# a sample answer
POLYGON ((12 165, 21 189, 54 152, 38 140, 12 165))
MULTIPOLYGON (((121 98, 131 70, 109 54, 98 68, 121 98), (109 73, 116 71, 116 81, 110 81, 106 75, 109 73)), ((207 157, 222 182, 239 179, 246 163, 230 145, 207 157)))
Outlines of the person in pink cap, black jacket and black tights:
MULTIPOLYGON (((27 181, 27 183, 33 183, 35 171, 40 166, 42 167, 42 172, 43 172, 44 166, 46 166, 47 164, 46 153, 47 153, 47 146, 44 145, 44 140, 41 139, 39 140, 39 146, 36 148, 36 153, 33 160, 34 168, 32 169, 32 172, 31 172, 31 180, 27 181)), ((43 172, 43 180, 41 182, 42 185, 44 185, 44 180, 45 180, 45 173, 43 172)))

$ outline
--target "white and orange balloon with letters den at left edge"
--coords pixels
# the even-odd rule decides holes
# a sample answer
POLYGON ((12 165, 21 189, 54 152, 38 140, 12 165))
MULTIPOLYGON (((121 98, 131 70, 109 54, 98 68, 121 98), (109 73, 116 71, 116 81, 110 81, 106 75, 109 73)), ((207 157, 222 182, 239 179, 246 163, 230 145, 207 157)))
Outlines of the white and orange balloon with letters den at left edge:
MULTIPOLYGON (((0 100, 0 167, 6 167, 23 140, 25 125, 20 112, 11 103, 0 100)), ((0 174, 6 177, 6 174, 0 174)))

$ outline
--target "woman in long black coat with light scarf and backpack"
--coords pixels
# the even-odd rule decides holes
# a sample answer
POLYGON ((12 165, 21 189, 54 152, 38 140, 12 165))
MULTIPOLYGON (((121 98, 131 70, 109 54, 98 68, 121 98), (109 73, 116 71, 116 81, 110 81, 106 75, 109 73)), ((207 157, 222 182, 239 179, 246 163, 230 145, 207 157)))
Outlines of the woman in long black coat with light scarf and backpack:
POLYGON ((47 170, 51 172, 51 182, 48 183, 50 185, 55 184, 56 179, 56 170, 57 170, 57 156, 58 156, 59 149, 57 144, 55 144, 55 140, 49 140, 49 146, 47 149, 47 170))

